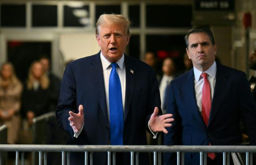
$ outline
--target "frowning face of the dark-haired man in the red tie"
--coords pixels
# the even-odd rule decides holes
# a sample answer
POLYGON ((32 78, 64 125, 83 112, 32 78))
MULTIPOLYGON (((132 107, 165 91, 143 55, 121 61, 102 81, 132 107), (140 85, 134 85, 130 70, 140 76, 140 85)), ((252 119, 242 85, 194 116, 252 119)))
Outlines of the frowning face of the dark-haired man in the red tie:
POLYGON ((188 38, 189 46, 186 49, 193 66, 204 72, 215 61, 217 45, 212 45, 206 33, 192 33, 188 38))

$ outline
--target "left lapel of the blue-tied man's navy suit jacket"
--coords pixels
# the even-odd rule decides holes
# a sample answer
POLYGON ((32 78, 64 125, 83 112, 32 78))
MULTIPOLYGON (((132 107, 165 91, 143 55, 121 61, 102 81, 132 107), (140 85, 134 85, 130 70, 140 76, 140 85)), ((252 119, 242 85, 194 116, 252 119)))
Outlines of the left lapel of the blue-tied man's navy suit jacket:
POLYGON ((100 60, 100 52, 96 54, 96 56, 91 61, 91 78, 92 82, 95 86, 95 94, 98 95, 100 107, 102 113, 105 116, 106 122, 108 122, 108 110, 107 110, 107 101, 106 101, 106 93, 105 93, 105 85, 104 85, 104 77, 103 77, 103 69, 102 63, 100 60))

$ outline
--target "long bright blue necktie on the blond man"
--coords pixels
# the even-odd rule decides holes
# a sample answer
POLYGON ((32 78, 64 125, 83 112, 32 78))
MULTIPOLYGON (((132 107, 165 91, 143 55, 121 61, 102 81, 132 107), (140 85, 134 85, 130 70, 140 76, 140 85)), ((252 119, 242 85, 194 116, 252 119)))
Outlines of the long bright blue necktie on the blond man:
POLYGON ((122 110, 122 90, 117 74, 117 63, 112 62, 112 70, 109 77, 109 122, 110 122, 110 145, 122 145, 124 129, 122 110))

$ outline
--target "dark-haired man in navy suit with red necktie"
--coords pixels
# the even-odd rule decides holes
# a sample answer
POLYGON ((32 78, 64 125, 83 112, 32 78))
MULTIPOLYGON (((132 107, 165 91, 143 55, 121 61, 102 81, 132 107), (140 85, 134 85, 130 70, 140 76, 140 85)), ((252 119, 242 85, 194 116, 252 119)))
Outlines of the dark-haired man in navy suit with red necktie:
MULTIPOLYGON (((242 142, 239 122, 256 145, 256 106, 244 72, 215 62, 217 45, 204 27, 188 31, 186 51, 193 68, 170 84, 167 113, 175 121, 167 128, 165 145, 236 145, 242 142)), ((198 165, 199 153, 185 153, 186 165, 198 165)), ((221 153, 208 153, 208 165, 222 164, 221 153)), ((176 164, 166 153, 164 164, 176 164)))

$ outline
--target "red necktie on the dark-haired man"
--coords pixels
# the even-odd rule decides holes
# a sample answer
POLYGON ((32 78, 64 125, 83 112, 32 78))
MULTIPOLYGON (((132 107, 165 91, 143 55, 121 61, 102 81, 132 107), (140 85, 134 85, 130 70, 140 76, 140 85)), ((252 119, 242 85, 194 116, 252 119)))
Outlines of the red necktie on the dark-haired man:
MULTIPOLYGON (((211 90, 210 83, 207 79, 207 73, 202 73, 201 76, 204 79, 204 86, 202 89, 202 117, 204 119, 204 123, 208 127, 208 120, 211 112, 211 90)), ((209 143, 209 145, 211 145, 209 143)), ((208 153, 209 158, 214 159, 216 156, 213 152, 208 153)))

